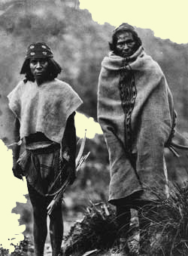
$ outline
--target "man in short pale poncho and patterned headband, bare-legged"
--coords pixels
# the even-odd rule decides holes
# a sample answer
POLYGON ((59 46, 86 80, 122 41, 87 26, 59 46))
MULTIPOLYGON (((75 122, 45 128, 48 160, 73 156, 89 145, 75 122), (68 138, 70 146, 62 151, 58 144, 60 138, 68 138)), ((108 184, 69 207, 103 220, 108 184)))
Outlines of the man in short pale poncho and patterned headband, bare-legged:
MULTIPOLYGON (((25 79, 8 94, 16 116, 14 124, 14 176, 26 176, 34 216, 35 256, 44 255, 47 205, 69 175, 75 179, 75 110, 82 100, 65 82, 56 79, 61 67, 44 42, 29 45, 21 74, 25 79), (20 143, 26 150, 20 156, 20 143), (67 166, 63 172, 62 166, 67 166), (59 174, 60 173, 60 174, 59 174)), ((60 255, 63 235, 62 205, 50 214, 53 256, 60 255)))

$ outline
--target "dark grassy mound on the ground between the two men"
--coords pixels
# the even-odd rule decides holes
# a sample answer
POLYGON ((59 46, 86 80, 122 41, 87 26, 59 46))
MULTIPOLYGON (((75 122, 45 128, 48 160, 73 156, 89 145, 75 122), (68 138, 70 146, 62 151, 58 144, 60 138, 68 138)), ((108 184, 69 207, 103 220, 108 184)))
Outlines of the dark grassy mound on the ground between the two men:
POLYGON ((96 248, 102 251, 112 248, 118 233, 114 217, 109 205, 92 204, 87 208, 83 220, 76 222, 65 237, 65 255, 78 252, 81 255, 96 248))

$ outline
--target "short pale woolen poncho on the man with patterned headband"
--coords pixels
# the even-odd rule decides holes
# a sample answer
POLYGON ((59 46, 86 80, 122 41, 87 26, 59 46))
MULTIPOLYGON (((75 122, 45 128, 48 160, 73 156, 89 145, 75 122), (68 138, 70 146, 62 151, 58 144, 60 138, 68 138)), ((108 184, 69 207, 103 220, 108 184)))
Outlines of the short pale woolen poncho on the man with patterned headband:
POLYGON ((8 94, 9 107, 20 120, 20 138, 40 131, 50 140, 61 143, 68 116, 82 100, 65 82, 54 79, 38 86, 21 81, 8 94))

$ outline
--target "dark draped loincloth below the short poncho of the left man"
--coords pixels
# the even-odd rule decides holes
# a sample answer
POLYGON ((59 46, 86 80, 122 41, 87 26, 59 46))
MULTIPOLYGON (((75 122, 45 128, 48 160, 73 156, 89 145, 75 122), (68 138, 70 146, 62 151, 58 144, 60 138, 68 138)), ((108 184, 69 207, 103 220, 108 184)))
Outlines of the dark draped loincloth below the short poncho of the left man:
POLYGON ((67 178, 66 168, 58 176, 66 161, 60 159, 58 143, 37 150, 26 149, 20 156, 19 164, 30 186, 42 196, 53 194, 62 186, 67 178), (57 178, 56 178, 57 177, 57 178), (52 187, 54 180, 56 183, 52 187))

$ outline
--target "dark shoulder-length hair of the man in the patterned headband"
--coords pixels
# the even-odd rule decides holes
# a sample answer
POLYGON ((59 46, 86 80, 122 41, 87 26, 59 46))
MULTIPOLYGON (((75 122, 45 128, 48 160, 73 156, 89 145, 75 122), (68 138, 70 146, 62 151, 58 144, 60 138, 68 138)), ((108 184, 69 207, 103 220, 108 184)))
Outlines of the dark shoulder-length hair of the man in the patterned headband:
MULTIPOLYGON (((56 60, 53 60, 53 58, 47 58, 47 62, 48 62, 47 81, 52 81, 53 79, 56 79, 56 77, 62 71, 62 68, 61 66, 59 66, 56 60)), ((35 78, 32 75, 29 64, 30 64, 30 59, 26 59, 20 71, 20 74, 25 75, 25 79, 23 80, 25 83, 27 81, 35 82, 35 78)))

